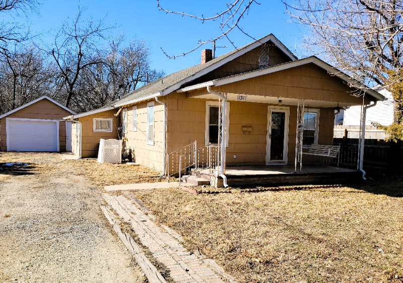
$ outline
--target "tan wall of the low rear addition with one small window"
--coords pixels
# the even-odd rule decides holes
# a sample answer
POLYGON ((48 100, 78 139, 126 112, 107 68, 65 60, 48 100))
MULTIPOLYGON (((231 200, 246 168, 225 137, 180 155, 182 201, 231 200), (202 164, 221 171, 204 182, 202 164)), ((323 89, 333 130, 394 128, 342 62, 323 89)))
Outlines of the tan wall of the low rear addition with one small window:
MULTIPOLYGON (((78 118, 78 120, 82 123, 82 157, 83 158, 95 158, 98 156, 98 149, 99 149, 99 140, 101 138, 110 139, 115 138, 118 139, 119 134, 116 130, 116 127, 120 126, 119 118, 116 118, 114 114, 116 114, 118 110, 108 110, 104 112, 100 112, 97 114, 84 116, 78 118), (94 118, 112 118, 112 132, 94 132, 93 130, 93 119, 94 118)), ((78 123, 72 123, 72 140, 73 146, 72 150, 73 153, 79 155, 80 153, 77 150, 77 126, 80 126, 78 123)))

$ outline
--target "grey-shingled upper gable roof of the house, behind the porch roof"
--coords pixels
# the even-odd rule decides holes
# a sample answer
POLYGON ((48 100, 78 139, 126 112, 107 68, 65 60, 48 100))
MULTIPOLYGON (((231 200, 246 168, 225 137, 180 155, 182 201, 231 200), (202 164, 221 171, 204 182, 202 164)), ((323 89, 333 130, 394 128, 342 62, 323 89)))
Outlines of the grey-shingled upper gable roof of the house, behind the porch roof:
POLYGON ((290 57, 290 59, 298 59, 280 40, 278 40, 273 34, 269 34, 249 44, 246 44, 242 47, 218 56, 205 64, 197 64, 165 76, 159 80, 148 83, 147 85, 144 85, 141 88, 138 88, 137 90, 127 94, 120 100, 113 101, 109 105, 119 107, 131 103, 136 103, 141 100, 154 98, 156 96, 164 96, 172 91, 179 89, 183 84, 193 81, 194 79, 197 79, 211 72, 212 70, 222 66, 223 64, 245 54, 246 52, 268 41, 272 41, 273 43, 275 43, 281 51, 283 51, 288 57, 290 57))

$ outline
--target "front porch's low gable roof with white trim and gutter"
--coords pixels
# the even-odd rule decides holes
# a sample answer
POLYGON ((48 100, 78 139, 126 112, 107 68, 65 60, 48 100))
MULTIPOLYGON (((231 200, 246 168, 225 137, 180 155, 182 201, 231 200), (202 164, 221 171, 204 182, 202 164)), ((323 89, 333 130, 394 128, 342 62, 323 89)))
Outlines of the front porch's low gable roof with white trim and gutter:
POLYGON ((343 81, 345 81, 347 83, 352 83, 352 82, 354 82, 356 84, 358 83, 361 86, 359 89, 361 89, 362 91, 365 91, 366 93, 368 93, 369 95, 371 95, 372 97, 374 97, 378 100, 381 100, 381 101, 384 100, 384 96, 379 94, 376 90, 368 88, 367 86, 354 80, 353 78, 351 78, 350 76, 348 76, 347 74, 342 72, 341 70, 329 65, 328 63, 319 59, 316 56, 311 56, 311 57, 307 57, 307 58, 303 58, 303 59, 299 59, 299 60, 295 60, 295 61, 290 61, 290 62, 286 62, 286 63, 274 65, 274 66, 268 66, 266 68, 256 69, 256 70, 252 70, 250 72, 232 75, 229 77, 220 78, 220 79, 212 80, 209 82, 205 82, 205 83, 201 83, 201 84, 197 84, 197 85, 193 85, 193 86, 188 86, 183 89, 177 90, 177 92, 180 93, 180 92, 185 92, 185 91, 190 91, 190 90, 196 90, 196 89, 200 89, 200 88, 205 88, 207 86, 217 86, 218 87, 218 86, 222 86, 222 85, 226 85, 226 84, 239 82, 242 80, 266 75, 266 74, 279 72, 284 69, 289 69, 292 67, 305 65, 305 64, 309 64, 309 63, 313 63, 331 74, 336 74, 335 75, 336 77, 342 79, 343 81))

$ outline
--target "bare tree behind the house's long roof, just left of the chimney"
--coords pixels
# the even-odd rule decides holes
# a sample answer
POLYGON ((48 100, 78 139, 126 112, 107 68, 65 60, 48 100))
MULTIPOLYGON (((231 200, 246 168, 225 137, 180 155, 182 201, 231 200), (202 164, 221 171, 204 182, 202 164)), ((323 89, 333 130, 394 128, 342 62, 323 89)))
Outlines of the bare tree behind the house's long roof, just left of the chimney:
POLYGON ((164 76, 150 67, 150 49, 141 39, 123 46, 124 38, 109 40, 102 61, 88 66, 79 78, 82 111, 110 103, 148 82, 164 76))

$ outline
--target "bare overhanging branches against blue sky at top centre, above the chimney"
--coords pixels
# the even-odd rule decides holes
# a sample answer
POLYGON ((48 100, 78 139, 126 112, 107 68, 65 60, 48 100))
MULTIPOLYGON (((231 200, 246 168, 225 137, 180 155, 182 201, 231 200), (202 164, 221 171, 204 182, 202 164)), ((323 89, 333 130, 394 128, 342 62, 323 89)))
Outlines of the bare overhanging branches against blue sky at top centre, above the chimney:
POLYGON ((193 19, 201 21, 202 23, 204 23, 206 21, 217 21, 219 23, 219 29, 220 29, 220 35, 218 35, 216 37, 212 37, 210 39, 199 40, 197 42, 197 46, 195 48, 188 50, 186 52, 183 52, 182 54, 168 55, 162 49, 162 47, 161 47, 161 50, 164 52, 164 54, 168 58, 176 58, 176 57, 180 57, 180 56, 185 56, 186 54, 193 52, 194 50, 198 49, 200 46, 202 46, 206 43, 213 42, 213 41, 216 41, 216 40, 219 40, 222 38, 227 38, 231 42, 231 44, 234 46, 234 48, 237 48, 237 46, 235 46, 235 44, 230 40, 230 38, 228 36, 229 33, 233 29, 238 29, 245 35, 252 38, 253 40, 256 40, 254 37, 252 37, 246 31, 244 31, 242 29, 242 27, 240 26, 241 20, 248 14, 248 12, 253 4, 260 5, 259 3, 256 2, 256 0, 232 0, 229 4, 225 3, 226 8, 223 11, 216 13, 214 16, 206 17, 204 15, 197 16, 197 15, 188 14, 185 12, 176 12, 176 11, 170 11, 170 10, 164 9, 160 5, 160 0, 157 0, 158 8, 161 11, 164 11, 165 13, 177 14, 182 17, 193 18, 193 19))

